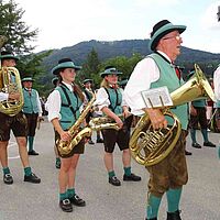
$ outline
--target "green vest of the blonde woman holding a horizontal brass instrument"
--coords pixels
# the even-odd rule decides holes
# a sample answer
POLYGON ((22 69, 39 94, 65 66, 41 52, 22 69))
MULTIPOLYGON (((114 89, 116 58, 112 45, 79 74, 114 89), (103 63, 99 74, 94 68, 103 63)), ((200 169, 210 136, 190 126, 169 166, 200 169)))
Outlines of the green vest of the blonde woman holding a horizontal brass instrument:
POLYGON ((105 89, 109 96, 109 101, 110 101, 109 108, 116 114, 121 114, 122 113, 122 106, 121 106, 122 94, 121 94, 120 89, 119 88, 117 90, 111 89, 111 88, 105 88, 105 89))

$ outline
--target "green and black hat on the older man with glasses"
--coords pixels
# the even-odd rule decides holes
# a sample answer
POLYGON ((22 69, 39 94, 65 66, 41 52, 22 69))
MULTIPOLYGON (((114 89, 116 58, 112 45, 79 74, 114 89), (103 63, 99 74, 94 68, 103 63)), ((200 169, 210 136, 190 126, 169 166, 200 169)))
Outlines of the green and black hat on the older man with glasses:
POLYGON ((158 23, 156 23, 153 28, 153 31, 151 33, 151 40, 148 42, 148 47, 152 51, 155 51, 160 40, 173 31, 178 31, 179 34, 182 34, 186 30, 185 25, 174 25, 167 20, 162 20, 158 23))

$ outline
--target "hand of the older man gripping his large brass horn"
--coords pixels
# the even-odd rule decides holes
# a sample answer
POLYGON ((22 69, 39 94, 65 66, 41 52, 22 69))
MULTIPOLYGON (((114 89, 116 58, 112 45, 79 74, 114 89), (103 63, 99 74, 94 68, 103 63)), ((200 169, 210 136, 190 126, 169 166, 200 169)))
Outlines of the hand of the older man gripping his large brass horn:
POLYGON ((166 129, 167 121, 160 109, 147 109, 146 112, 150 117, 154 130, 166 129))

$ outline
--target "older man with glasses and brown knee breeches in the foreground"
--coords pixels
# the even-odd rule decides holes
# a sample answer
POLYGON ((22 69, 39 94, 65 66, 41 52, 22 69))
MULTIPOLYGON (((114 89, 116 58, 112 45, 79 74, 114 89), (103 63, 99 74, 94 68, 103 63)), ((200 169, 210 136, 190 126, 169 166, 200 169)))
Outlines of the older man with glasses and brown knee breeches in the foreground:
MULTIPOLYGON (((136 116, 147 113, 155 130, 166 128, 167 120, 160 109, 146 108, 141 92, 162 86, 167 86, 172 92, 183 84, 179 70, 173 63, 180 54, 183 43, 180 34, 185 30, 185 25, 174 25, 167 20, 156 23, 150 40, 150 48, 153 53, 138 63, 124 90, 131 112, 136 116)), ((165 193, 168 204, 167 220, 182 219, 179 215, 182 188, 188 180, 185 157, 187 105, 175 107, 172 111, 180 120, 182 133, 167 157, 146 167, 150 173, 146 220, 157 219, 162 196, 165 193)))

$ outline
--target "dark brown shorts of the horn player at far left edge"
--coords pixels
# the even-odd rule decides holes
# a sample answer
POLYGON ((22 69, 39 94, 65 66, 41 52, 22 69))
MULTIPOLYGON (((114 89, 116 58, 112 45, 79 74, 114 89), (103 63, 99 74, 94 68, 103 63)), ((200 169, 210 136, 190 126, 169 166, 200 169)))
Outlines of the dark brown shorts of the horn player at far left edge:
POLYGON ((19 112, 14 117, 0 112, 0 141, 9 141, 11 130, 15 138, 26 136, 28 122, 23 112, 19 112))

